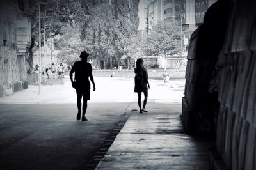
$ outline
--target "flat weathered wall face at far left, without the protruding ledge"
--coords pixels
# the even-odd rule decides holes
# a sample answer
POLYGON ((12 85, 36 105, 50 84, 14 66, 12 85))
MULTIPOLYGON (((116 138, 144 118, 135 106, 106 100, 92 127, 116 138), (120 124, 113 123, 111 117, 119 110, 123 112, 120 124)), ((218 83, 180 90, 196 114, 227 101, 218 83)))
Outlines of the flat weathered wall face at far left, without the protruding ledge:
POLYGON ((16 1, 0 1, 0 97, 13 93, 12 81, 18 81, 16 67, 16 1))

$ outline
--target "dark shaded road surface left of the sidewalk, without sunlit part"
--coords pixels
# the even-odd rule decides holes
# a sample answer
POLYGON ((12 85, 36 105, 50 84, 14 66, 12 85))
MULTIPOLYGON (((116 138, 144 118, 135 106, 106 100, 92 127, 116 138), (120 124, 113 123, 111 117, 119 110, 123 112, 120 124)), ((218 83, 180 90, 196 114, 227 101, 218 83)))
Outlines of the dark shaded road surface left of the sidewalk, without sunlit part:
POLYGON ((1 104, 0 169, 83 169, 129 103, 92 103, 89 121, 75 104, 1 104))

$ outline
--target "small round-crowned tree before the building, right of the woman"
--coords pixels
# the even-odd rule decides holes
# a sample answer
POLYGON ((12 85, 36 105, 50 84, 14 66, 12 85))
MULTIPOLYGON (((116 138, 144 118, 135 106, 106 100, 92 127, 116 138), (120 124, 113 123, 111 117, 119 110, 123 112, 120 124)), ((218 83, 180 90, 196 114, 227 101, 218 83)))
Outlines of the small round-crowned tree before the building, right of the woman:
MULTIPOLYGON (((161 21, 152 27, 143 48, 148 55, 164 55, 166 59, 166 54, 173 56, 181 52, 180 41, 179 26, 173 22, 161 21)), ((164 68, 166 69, 166 65, 164 68)))

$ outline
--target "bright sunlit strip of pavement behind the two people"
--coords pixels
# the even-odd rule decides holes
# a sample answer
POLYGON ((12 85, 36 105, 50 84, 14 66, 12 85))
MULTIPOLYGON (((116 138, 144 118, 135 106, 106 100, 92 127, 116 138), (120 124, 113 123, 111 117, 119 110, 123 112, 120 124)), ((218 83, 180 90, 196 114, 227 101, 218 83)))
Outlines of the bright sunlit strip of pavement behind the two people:
MULTIPOLYGON (((89 102, 132 102, 137 100, 134 93, 134 79, 119 77, 94 77, 96 91, 91 88, 89 102)), ((184 93, 184 79, 164 83, 150 80, 148 100, 156 102, 181 102, 184 93)), ((66 76, 63 85, 39 87, 29 85, 28 89, 17 91, 11 96, 0 97, 0 104, 64 104, 76 103, 76 90, 66 76)))

